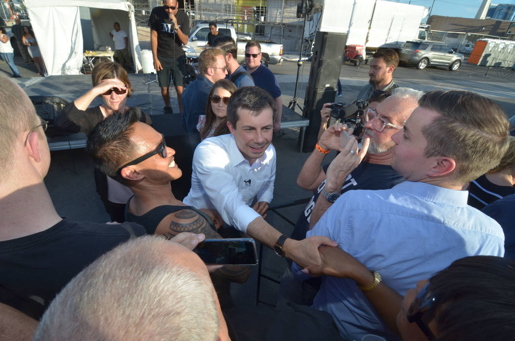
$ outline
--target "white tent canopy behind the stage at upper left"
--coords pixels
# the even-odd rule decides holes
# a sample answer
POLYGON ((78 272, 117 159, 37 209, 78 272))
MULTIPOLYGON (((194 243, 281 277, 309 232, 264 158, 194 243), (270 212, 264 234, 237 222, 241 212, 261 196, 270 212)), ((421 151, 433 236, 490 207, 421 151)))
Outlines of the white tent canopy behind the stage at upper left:
POLYGON ((121 0, 25 0, 30 23, 49 75, 78 75, 83 46, 79 7, 90 8, 95 48, 111 46, 113 23, 129 36, 129 51, 135 72, 141 69, 141 48, 134 20, 134 8, 121 0))

